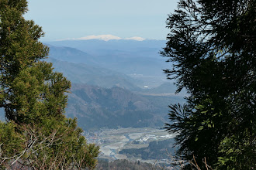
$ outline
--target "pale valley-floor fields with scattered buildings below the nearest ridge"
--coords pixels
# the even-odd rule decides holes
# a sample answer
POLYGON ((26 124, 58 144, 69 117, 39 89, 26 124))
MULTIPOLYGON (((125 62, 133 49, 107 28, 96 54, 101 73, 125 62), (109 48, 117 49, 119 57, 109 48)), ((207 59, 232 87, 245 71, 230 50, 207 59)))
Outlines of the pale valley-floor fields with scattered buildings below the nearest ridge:
POLYGON ((85 134, 88 142, 96 143, 101 147, 99 158, 108 158, 109 161, 116 159, 128 159, 130 161, 154 163, 159 160, 141 160, 141 158, 127 157, 119 154, 122 149, 147 148, 150 141, 163 141, 174 138, 175 134, 157 128, 119 128, 94 131, 85 134))

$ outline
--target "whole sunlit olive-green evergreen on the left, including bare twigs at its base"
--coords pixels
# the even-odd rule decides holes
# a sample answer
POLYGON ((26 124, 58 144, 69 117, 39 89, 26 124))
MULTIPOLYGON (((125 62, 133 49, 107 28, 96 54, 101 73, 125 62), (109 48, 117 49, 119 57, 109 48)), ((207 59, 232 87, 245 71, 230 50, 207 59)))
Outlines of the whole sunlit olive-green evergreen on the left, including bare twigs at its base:
POLYGON ((63 114, 71 82, 42 60, 49 48, 26 12, 26 0, 0 0, 0 166, 94 168, 99 147, 63 114))

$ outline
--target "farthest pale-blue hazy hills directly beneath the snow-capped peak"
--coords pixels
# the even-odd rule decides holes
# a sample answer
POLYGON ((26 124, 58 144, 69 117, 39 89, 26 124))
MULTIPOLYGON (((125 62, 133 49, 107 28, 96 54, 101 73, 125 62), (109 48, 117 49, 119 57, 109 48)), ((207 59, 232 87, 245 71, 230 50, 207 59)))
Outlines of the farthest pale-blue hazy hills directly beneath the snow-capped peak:
POLYGON ((46 42, 50 57, 71 63, 86 63, 125 74, 163 76, 168 68, 159 51, 165 46, 161 40, 98 39, 46 42))

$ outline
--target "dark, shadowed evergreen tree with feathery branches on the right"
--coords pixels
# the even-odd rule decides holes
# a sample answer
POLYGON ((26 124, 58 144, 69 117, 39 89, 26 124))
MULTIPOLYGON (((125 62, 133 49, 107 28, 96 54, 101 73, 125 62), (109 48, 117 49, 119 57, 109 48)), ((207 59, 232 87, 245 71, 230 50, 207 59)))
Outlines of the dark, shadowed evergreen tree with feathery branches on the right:
POLYGON ((206 167, 256 167, 256 2, 181 0, 167 21, 164 70, 187 104, 171 105, 166 128, 178 153, 206 167))

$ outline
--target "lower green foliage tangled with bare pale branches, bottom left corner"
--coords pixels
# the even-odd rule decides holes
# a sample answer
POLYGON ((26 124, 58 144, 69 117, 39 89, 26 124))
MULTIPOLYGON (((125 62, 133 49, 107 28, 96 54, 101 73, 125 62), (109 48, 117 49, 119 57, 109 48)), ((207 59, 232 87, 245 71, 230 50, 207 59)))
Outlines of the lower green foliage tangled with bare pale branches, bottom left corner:
POLYGON ((96 165, 99 147, 86 143, 75 119, 0 125, 0 168, 69 169, 96 165))

